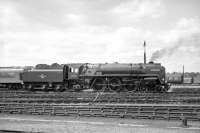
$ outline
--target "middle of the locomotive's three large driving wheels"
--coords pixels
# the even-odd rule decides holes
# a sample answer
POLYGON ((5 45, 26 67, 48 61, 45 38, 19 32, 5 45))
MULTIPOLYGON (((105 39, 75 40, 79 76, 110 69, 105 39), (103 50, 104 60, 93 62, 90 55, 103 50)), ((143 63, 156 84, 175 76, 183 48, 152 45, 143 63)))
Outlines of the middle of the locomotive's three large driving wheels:
POLYGON ((122 87, 122 84, 121 84, 121 80, 118 79, 118 78, 112 78, 110 81, 109 81, 109 87, 111 90, 113 91, 120 91, 121 87, 122 87))

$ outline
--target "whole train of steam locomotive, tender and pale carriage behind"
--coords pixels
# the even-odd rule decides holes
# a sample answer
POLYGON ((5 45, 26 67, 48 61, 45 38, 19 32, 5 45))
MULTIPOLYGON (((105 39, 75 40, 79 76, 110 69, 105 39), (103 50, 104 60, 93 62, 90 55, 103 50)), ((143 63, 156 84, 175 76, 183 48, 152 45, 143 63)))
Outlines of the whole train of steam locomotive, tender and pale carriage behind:
MULTIPOLYGON (((0 86, 28 90, 86 90, 165 92, 165 68, 160 63, 66 64, 63 69, 15 71, 15 78, 2 78, 0 86), (11 81, 14 80, 15 82, 11 81)), ((8 77, 14 72, 8 74, 8 77)), ((4 74, 5 76, 5 74, 4 74)))

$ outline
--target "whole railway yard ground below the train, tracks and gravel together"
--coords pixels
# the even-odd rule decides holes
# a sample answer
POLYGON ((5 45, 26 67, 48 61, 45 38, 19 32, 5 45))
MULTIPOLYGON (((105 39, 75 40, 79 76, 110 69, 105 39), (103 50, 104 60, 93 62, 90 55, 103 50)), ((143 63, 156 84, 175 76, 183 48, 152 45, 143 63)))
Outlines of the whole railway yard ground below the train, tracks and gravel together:
MULTIPOLYGON (((103 125, 107 131, 108 127, 110 129, 115 127, 112 130, 116 132, 133 130, 166 133, 169 131, 199 132, 199 103, 200 93, 30 92, 2 89, 0 92, 0 128, 2 132, 6 132, 9 128, 8 124, 19 121, 18 124, 22 125, 30 125, 32 122, 41 123, 41 127, 36 128, 33 124, 31 128, 20 128, 21 126, 15 122, 13 130, 45 132, 48 131, 42 130, 44 128, 42 125, 45 123, 55 123, 55 127, 64 126, 67 123, 70 125, 67 129, 71 132, 81 132, 80 129, 84 126, 86 129, 91 128, 88 131, 82 131, 94 132, 95 128, 96 132, 102 132, 99 126, 103 125), (79 119, 78 122, 76 119, 79 119), (146 123, 146 126, 143 127, 143 124, 141 126, 141 122, 146 123), (160 127, 159 122, 165 124, 160 127), (74 127, 75 123, 81 128, 74 127), (167 123, 169 127, 166 126, 167 123), (77 130, 72 131, 72 128, 77 130), (119 129, 116 130, 116 128, 119 129), (178 128, 180 129, 177 130, 178 128)), ((55 132, 55 130, 50 131, 50 127, 48 129, 49 132, 55 132)), ((62 129, 64 130, 63 127, 62 129)))

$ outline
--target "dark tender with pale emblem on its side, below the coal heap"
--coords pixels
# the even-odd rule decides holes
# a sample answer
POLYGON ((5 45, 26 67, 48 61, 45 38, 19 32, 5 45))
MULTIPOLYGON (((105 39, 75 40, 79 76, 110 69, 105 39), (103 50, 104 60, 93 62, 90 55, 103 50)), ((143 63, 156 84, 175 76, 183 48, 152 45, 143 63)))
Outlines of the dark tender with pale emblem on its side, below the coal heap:
POLYGON ((24 88, 28 90, 55 90, 63 89, 62 69, 34 69, 22 73, 24 88))

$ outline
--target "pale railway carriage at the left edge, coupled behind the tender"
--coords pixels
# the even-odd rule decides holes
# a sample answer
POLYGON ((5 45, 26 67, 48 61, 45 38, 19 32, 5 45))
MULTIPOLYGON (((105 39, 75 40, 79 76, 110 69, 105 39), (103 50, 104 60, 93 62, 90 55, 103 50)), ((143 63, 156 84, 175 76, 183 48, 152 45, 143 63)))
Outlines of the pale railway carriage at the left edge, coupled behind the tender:
POLYGON ((23 81, 21 80, 21 68, 0 68, 0 87, 8 89, 22 88, 23 81))

